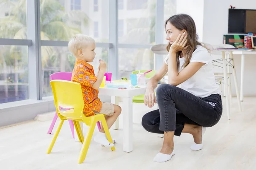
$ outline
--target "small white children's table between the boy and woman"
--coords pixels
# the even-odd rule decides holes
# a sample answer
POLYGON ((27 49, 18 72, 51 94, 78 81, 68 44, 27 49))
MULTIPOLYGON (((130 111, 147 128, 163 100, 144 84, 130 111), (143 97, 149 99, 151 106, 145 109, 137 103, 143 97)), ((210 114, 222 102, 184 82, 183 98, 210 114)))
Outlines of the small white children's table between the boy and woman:
MULTIPOLYGON (((100 95, 111 96, 111 103, 118 105, 119 98, 122 98, 123 107, 123 150, 125 152, 131 152, 133 150, 133 133, 132 133, 132 110, 133 110, 133 96, 138 96, 145 94, 146 87, 140 88, 129 88, 129 89, 117 89, 117 88, 99 88, 100 95)), ((81 129, 82 128, 82 124, 81 129)), ((114 129, 118 129, 118 121, 113 125, 114 129)), ((76 134, 76 133, 75 133, 76 134)), ((75 140, 77 139, 77 135, 75 135, 75 140)))

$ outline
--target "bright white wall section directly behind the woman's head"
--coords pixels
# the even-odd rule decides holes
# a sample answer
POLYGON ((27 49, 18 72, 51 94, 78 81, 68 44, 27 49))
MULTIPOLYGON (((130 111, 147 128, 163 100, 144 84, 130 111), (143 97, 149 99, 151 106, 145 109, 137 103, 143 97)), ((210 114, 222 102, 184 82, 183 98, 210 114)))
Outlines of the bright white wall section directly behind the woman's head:
POLYGON ((177 14, 188 14, 195 21, 199 41, 203 37, 204 0, 177 0, 177 14))

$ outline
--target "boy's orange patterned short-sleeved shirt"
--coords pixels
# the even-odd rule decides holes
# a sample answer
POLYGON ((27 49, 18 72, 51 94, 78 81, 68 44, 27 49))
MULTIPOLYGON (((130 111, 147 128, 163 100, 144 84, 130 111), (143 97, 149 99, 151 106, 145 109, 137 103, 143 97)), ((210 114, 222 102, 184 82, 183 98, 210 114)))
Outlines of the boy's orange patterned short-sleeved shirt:
POLYGON ((99 90, 92 88, 97 80, 93 66, 81 59, 76 59, 71 80, 81 84, 85 116, 93 116, 95 114, 93 111, 99 112, 102 108, 102 102, 98 98, 99 90))

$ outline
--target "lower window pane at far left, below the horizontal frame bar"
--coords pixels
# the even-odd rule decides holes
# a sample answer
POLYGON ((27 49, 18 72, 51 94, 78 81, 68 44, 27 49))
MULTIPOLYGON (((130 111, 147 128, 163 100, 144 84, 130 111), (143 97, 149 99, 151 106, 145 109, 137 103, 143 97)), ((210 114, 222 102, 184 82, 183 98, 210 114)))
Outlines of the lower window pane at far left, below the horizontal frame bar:
POLYGON ((0 103, 29 98, 28 47, 0 45, 0 103))

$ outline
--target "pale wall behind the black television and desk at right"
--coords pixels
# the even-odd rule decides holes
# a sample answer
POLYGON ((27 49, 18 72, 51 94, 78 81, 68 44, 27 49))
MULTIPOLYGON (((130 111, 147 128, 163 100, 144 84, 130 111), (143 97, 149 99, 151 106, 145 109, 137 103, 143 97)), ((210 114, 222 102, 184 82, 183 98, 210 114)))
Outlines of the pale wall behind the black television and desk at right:
MULTIPOLYGON (((230 5, 241 9, 256 9, 256 0, 204 0, 203 42, 223 44, 223 34, 227 34, 228 8, 230 5)), ((200 8, 199 8, 200 9, 200 8)), ((198 10, 198 9, 197 9, 198 10)), ((240 88, 241 56, 234 56, 240 88)), ((245 57, 244 95, 256 96, 256 56, 245 57)), ((232 79, 233 82, 233 79, 232 79)), ((232 93, 235 93, 233 84, 232 93)))

